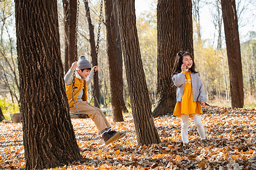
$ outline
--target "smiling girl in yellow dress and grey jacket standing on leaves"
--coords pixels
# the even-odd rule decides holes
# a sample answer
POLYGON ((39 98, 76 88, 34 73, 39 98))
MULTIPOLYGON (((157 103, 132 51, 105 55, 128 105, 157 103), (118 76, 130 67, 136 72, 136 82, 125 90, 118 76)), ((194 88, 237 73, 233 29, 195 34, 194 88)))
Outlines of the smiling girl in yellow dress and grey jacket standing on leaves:
POLYGON ((193 117, 201 141, 204 145, 207 144, 201 121, 201 114, 203 113, 201 107, 205 107, 207 97, 195 67, 194 59, 190 53, 177 53, 172 70, 172 81, 177 87, 174 116, 181 118, 181 138, 184 146, 188 146, 189 117, 193 117))

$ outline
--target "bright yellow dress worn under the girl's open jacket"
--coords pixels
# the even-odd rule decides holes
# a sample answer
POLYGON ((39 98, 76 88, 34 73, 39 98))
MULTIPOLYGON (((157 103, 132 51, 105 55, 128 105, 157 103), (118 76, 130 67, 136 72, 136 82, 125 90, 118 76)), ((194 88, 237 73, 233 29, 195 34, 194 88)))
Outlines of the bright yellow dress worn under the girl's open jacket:
POLYGON ((193 117, 192 114, 202 114, 202 108, 199 101, 193 102, 193 91, 191 84, 191 71, 186 71, 185 87, 181 101, 177 101, 174 108, 174 116, 180 117, 181 114, 189 114, 189 117, 193 117))

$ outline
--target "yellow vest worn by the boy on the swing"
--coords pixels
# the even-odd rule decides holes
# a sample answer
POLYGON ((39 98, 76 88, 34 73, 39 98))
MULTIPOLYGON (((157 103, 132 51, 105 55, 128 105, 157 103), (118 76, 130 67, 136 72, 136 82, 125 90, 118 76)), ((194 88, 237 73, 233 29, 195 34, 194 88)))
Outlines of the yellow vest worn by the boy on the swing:
MULTIPOLYGON (((72 86, 73 83, 67 85, 66 84, 66 93, 68 96, 68 102, 71 101, 72 99, 72 86)), ((75 77, 75 95, 74 95, 74 99, 75 101, 77 101, 77 97, 79 96, 80 92, 83 90, 84 94, 82 94, 82 101, 87 101, 87 83, 86 80, 84 80, 84 88, 82 87, 82 79, 78 79, 75 77)), ((72 107, 73 104, 75 104, 75 101, 71 101, 71 103, 69 104, 69 107, 72 107)))

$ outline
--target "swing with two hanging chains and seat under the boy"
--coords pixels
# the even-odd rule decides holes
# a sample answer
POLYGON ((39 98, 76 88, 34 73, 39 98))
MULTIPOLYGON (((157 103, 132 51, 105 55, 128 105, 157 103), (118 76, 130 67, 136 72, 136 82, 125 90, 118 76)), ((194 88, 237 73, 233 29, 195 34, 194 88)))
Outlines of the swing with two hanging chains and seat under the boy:
MULTIPOLYGON (((78 19, 79 19, 79 5, 80 5, 80 2, 79 0, 77 1, 77 11, 76 11, 76 32, 75 32, 75 53, 74 53, 74 61, 76 61, 76 57, 77 57, 77 29, 78 29, 78 19)), ((96 45, 96 61, 95 61, 95 66, 98 65, 98 48, 99 48, 99 42, 100 42, 100 29, 101 29, 101 18, 102 18, 102 6, 103 6, 103 0, 101 0, 101 8, 100 8, 100 16, 99 16, 99 20, 98 20, 98 35, 97 35, 97 45, 96 45)), ((73 100, 75 102, 75 105, 76 105, 76 109, 77 109, 77 112, 78 114, 72 114, 72 113, 69 113, 71 118, 89 118, 89 116, 87 114, 80 114, 79 112, 79 109, 77 108, 77 104, 76 104, 76 101, 74 99, 74 96, 75 96, 75 77, 76 77, 76 69, 73 71, 73 82, 72 82, 72 99, 69 101, 68 104, 71 103, 71 101, 73 100)), ((92 99, 96 100, 97 101, 97 104, 98 104, 98 107, 100 108, 100 104, 98 103, 98 99, 97 97, 95 96, 95 91, 96 91, 96 74, 93 75, 93 78, 94 78, 94 87, 93 87, 93 96, 92 96, 92 99)), ((90 103, 92 102, 92 99, 90 99, 90 103)), ((108 109, 101 109, 102 112, 104 114, 106 114, 106 112, 108 111, 108 109)))

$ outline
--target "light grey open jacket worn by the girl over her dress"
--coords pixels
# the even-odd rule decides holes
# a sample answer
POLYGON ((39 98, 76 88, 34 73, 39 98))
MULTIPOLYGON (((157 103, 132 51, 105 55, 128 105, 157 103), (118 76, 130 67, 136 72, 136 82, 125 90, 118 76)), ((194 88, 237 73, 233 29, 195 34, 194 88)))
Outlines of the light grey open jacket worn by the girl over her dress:
MULTIPOLYGON (((192 91, 193 91, 193 102, 196 101, 206 101, 207 96, 205 95, 203 84, 201 82, 201 79, 198 75, 198 73, 191 73, 191 84, 192 84, 192 91)), ((181 101, 184 87, 185 87, 185 79, 186 76, 184 73, 178 73, 172 76, 172 82, 174 82, 174 85, 176 88, 176 100, 181 101)))

